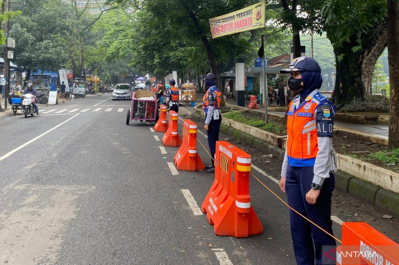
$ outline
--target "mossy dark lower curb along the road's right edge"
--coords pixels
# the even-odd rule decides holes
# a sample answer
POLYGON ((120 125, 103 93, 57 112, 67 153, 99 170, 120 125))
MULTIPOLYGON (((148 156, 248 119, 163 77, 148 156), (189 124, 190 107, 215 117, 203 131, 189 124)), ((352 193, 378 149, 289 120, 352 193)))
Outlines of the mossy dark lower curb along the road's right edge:
MULTIPOLYGON (((203 121, 203 117, 192 112, 192 119, 203 121)), ((278 161, 284 160, 285 150, 274 146, 264 140, 249 135, 245 132, 229 127, 226 124, 220 125, 220 131, 232 136, 235 139, 244 142, 255 149, 267 154, 272 154, 278 161)), ((337 171, 335 176, 335 188, 341 192, 359 198, 365 202, 374 205, 376 208, 386 211, 393 216, 399 218, 399 194, 393 191, 381 188, 367 180, 352 176, 343 171, 337 171)))

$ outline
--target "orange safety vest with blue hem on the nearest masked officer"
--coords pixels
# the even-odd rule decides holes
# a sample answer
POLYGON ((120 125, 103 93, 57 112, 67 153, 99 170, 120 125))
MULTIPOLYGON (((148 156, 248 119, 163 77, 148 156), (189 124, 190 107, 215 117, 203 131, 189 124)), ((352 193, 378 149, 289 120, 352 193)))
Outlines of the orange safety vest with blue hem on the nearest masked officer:
POLYGON ((319 92, 308 96, 299 106, 299 97, 289 104, 287 113, 287 158, 292 167, 313 167, 318 144, 315 111, 327 98, 319 92))

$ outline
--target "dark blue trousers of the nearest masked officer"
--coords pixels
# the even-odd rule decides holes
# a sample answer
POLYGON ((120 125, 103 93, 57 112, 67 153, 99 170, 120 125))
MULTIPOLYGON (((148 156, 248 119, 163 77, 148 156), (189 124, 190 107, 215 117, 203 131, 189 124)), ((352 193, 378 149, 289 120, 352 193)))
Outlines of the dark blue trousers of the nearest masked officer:
MULTIPOLYGON (((305 195, 311 189, 313 167, 291 167, 288 165, 285 191, 288 204, 333 235, 331 221, 331 196, 335 188, 334 174, 330 174, 316 204, 306 202, 305 195)), ((291 237, 298 265, 322 265, 323 246, 336 246, 335 239, 290 210, 291 237)), ((332 249, 333 247, 330 247, 332 249)))

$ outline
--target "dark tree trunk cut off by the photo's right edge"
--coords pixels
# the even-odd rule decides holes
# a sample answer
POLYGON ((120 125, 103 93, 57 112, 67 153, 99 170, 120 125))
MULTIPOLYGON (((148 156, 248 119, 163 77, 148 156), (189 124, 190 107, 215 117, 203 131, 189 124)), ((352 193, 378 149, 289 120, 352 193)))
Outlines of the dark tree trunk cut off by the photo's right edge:
POLYGON ((390 69, 389 148, 399 148, 399 1, 388 0, 388 62, 390 69))

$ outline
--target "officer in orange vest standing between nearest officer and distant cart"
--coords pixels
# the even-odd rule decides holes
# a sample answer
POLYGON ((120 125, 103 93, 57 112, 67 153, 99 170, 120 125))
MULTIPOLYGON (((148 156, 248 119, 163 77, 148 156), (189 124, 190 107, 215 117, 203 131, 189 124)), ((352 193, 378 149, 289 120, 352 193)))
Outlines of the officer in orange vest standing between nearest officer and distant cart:
POLYGON ((211 164, 206 166, 207 173, 214 173, 214 156, 216 141, 219 141, 219 129, 221 123, 220 115, 220 90, 216 88, 216 76, 212 73, 205 77, 205 86, 208 89, 202 97, 202 108, 205 113, 205 126, 208 136, 208 146, 211 156, 211 164))

